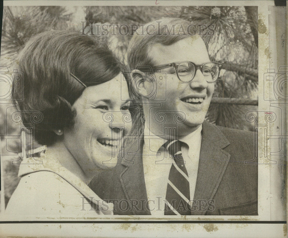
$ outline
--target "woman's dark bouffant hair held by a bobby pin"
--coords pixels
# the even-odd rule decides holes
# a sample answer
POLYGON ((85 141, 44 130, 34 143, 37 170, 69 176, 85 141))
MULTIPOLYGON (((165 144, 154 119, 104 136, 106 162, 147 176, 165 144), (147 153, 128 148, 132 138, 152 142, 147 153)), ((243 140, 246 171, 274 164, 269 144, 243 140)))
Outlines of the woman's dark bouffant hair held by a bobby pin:
MULTIPOLYGON (((56 141, 53 130, 74 124, 72 105, 85 87, 71 74, 88 87, 121 72, 120 63, 106 45, 71 31, 48 31, 32 37, 20 52, 18 63, 24 85, 24 99, 18 107, 24 125, 30 122, 31 111, 43 114, 43 120, 34 124, 34 138, 42 145, 56 141)), ((21 92, 15 90, 17 98, 21 92)))

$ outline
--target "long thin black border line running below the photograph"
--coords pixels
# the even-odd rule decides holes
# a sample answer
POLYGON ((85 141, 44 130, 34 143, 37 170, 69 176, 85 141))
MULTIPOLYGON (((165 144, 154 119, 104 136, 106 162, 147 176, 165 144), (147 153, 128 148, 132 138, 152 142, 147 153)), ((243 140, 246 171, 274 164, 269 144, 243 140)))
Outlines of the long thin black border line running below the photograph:
POLYGON ((27 224, 27 223, 152 223, 152 224, 165 224, 165 223, 228 223, 228 224, 287 224, 287 221, 201 221, 201 220, 168 220, 168 221, 143 221, 143 220, 133 220, 133 221, 0 221, 0 224, 27 224))

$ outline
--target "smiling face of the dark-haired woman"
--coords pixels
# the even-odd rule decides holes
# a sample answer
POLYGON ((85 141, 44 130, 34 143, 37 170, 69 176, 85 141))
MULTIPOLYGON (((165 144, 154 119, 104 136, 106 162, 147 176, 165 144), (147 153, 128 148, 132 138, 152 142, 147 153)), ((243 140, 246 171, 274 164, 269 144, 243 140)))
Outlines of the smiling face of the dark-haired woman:
POLYGON ((123 136, 132 125, 129 104, 127 83, 121 74, 87 87, 73 104, 75 124, 64 131, 64 143, 84 173, 117 163, 123 136))

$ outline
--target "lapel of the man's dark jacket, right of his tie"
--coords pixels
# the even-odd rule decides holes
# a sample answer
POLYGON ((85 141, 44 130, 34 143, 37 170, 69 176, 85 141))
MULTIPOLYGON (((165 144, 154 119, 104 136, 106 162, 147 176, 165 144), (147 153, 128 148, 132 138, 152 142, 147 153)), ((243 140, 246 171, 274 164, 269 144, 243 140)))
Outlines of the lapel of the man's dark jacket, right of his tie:
MULTIPOLYGON (((194 200, 213 199, 230 159, 230 154, 223 150, 229 141, 222 132, 208 122, 203 123, 202 143, 198 165, 198 174, 194 200)), ((198 206, 199 208, 199 206, 198 206)), ((206 211, 196 210, 191 215, 204 215, 206 211)))

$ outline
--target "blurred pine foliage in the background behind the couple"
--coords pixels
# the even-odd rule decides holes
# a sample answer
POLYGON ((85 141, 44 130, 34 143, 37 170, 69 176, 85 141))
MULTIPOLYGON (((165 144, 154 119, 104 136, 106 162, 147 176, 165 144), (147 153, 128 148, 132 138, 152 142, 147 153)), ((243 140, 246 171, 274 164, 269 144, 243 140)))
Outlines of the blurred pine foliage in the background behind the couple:
MULTIPOLYGON (((17 55, 30 37, 47 30, 80 32, 82 30, 80 21, 139 26, 163 17, 183 18, 193 24, 214 24, 215 26, 214 35, 203 36, 211 61, 223 64, 213 97, 257 99, 257 16, 257 7, 251 6, 4 7, 0 66, 7 66, 10 71, 13 71, 17 68, 17 55)), ((118 31, 116 35, 99 37, 99 40, 107 43, 120 61, 126 64, 126 51, 132 36, 117 33, 118 31)), ((19 125, 13 124, 10 120, 6 121, 10 115, 6 115, 3 107, 4 105, 0 104, 0 134, 12 135, 15 127, 19 125)), ((245 121, 245 113, 250 110, 257 110, 257 106, 211 103, 207 120, 220 126, 252 130, 250 124, 245 121)), ((20 152, 19 141, 1 142, 2 151, 20 152)), ((18 170, 11 162, 5 164, 4 169, 5 176, 10 177, 5 181, 7 202, 18 183, 16 179, 18 170)))

